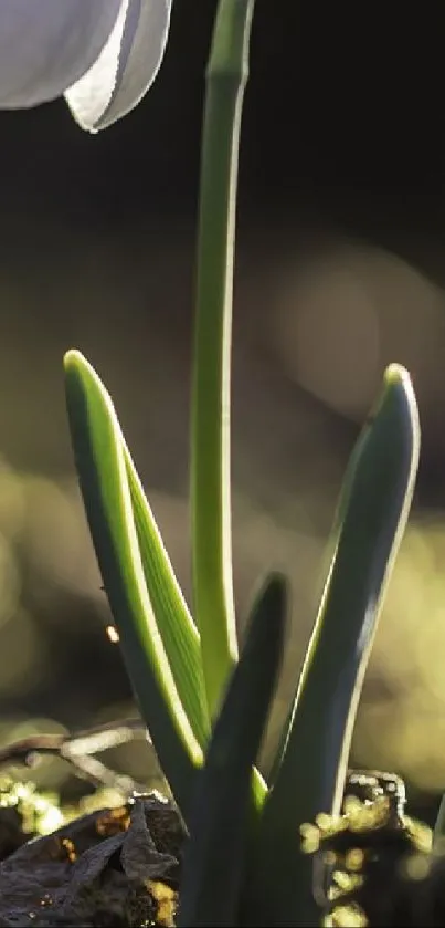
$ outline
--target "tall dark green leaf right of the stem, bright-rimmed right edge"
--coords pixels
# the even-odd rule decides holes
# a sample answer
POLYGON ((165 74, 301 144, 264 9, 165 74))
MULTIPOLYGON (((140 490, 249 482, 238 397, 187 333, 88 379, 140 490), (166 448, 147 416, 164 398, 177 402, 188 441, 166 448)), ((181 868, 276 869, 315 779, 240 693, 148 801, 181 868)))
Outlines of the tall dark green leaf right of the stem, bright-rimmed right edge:
POLYGON ((255 924, 319 925, 311 858, 299 826, 337 814, 352 727, 382 595, 406 523, 420 426, 407 373, 392 365, 347 469, 335 551, 289 719, 282 762, 264 806, 255 924), (272 880, 272 898, 263 893, 272 880), (274 913, 271 910, 274 906, 274 913))

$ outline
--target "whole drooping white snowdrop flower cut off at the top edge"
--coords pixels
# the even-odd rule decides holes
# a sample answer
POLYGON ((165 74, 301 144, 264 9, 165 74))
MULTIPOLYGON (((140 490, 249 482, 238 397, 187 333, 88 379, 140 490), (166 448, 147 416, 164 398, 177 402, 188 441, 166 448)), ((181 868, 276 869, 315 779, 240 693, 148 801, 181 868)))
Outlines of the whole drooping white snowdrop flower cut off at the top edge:
POLYGON ((139 103, 162 61, 172 0, 0 0, 0 108, 64 94, 96 132, 139 103))

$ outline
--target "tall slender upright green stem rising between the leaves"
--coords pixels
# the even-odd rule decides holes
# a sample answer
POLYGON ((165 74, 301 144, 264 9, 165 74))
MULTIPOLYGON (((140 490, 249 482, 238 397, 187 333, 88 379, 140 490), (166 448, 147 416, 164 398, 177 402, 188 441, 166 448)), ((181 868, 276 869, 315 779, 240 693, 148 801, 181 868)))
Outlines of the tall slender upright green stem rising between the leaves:
POLYGON ((237 659, 230 500, 234 226, 243 93, 254 0, 220 0, 206 72, 201 149, 192 387, 194 616, 209 711, 237 659))

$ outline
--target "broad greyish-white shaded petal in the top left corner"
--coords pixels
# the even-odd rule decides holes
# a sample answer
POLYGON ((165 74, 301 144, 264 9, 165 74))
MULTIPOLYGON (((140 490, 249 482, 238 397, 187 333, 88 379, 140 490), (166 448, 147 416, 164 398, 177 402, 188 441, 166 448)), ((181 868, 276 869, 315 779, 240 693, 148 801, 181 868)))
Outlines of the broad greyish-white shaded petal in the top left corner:
POLYGON ((0 107, 61 96, 94 64, 121 0, 0 0, 0 107))

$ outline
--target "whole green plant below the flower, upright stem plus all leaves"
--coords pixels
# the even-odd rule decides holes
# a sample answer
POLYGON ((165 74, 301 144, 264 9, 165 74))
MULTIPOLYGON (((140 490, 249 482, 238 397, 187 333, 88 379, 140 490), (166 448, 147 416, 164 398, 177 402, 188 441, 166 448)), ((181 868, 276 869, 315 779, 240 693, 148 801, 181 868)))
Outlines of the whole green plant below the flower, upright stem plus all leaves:
POLYGON ((254 763, 283 653, 284 584, 253 608, 240 659, 230 539, 233 225, 253 0, 220 0, 208 70, 191 435, 197 625, 109 395, 65 358, 76 467, 128 674, 188 825, 180 925, 309 926, 321 914, 300 828, 338 815, 385 584, 407 519, 420 429, 392 365, 352 453, 321 604, 269 788, 254 763), (225 698, 224 698, 225 695, 225 698))

